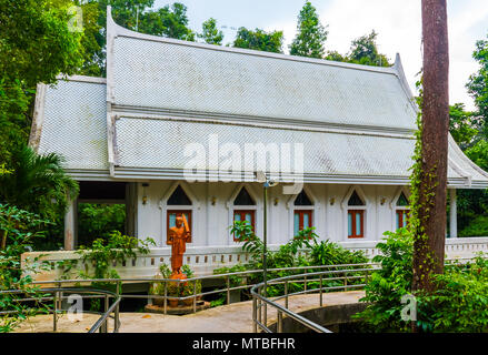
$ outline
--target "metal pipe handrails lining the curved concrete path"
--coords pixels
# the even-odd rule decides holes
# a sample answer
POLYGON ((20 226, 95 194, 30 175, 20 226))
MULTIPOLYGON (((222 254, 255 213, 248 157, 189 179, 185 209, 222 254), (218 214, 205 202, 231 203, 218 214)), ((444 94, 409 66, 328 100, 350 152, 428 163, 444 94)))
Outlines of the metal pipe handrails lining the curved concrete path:
MULTIPOLYGON (((460 260, 472 260, 472 258, 456 258, 454 261, 460 261, 460 260)), ((447 260, 446 262, 448 262, 450 260, 447 260)), ((285 295, 283 296, 279 296, 279 297, 275 297, 275 301, 279 301, 281 298, 286 298, 286 306, 285 310, 282 310, 283 307, 276 304, 276 302, 270 301, 266 297, 263 297, 262 295, 260 295, 259 293, 256 294, 256 290, 259 290, 259 287, 262 287, 263 283, 259 283, 259 284, 246 284, 246 285, 239 285, 239 286, 230 286, 230 277, 232 276, 249 276, 252 274, 258 274, 258 273, 262 273, 262 270, 250 270, 250 271, 242 271, 242 272, 233 272, 233 273, 223 273, 223 274, 212 274, 212 275, 202 275, 202 276, 198 276, 198 277, 190 277, 190 278, 186 278, 186 280, 173 280, 173 278, 155 278, 155 277, 132 277, 132 278, 90 278, 90 280, 86 280, 86 278, 74 278, 74 280, 54 280, 54 281, 34 281, 32 282, 33 285, 47 285, 47 284, 56 284, 58 285, 58 287, 56 288, 39 288, 39 290, 33 290, 32 292, 27 292, 27 291, 21 291, 21 290, 10 290, 10 291, 0 291, 0 294, 4 294, 4 293, 34 293, 34 292, 43 292, 43 293, 49 293, 49 291, 54 292, 54 296, 52 297, 47 297, 43 300, 53 300, 54 301, 54 326, 56 326, 56 313, 58 311, 63 312, 63 310, 56 310, 57 306, 57 302, 56 302, 56 295, 57 293, 62 293, 62 292, 70 292, 70 291, 76 291, 78 293, 100 293, 102 295, 91 295, 91 296, 86 296, 86 298, 102 298, 102 297, 111 297, 114 298, 114 302, 112 303, 112 305, 108 305, 107 301, 106 301, 106 312, 104 313, 97 313, 97 312, 90 312, 90 313, 96 313, 96 314, 101 314, 100 318, 96 322, 96 324, 93 324, 92 328, 90 328, 90 333, 91 332, 96 332, 97 329, 103 329, 104 332, 107 332, 107 327, 102 327, 102 325, 107 324, 107 320, 110 318, 114 318, 114 332, 118 332, 119 326, 120 326, 120 320, 119 320, 119 304, 121 302, 121 300, 123 298, 151 298, 151 300, 165 300, 165 307, 163 307, 163 313, 167 314, 167 301, 168 300, 178 300, 178 301, 185 301, 185 300, 189 300, 192 298, 193 300, 193 313, 197 312, 197 297, 199 296, 205 296, 205 295, 210 295, 210 294, 218 294, 218 293, 223 293, 227 292, 227 304, 230 304, 230 292, 231 291, 238 291, 238 290, 247 290, 250 288, 250 293, 252 295, 252 301, 253 303, 257 302, 259 300, 259 302, 265 303, 263 308, 266 310, 267 305, 270 304, 271 306, 276 307, 279 312, 278 312, 278 318, 279 321, 282 321, 282 313, 287 314, 289 317, 296 320, 299 323, 305 323, 306 326, 309 326, 311 329, 315 331, 320 331, 323 332, 323 327, 317 326, 317 325, 312 325, 309 324, 309 321, 292 313, 291 311, 289 311, 288 307, 288 297, 292 296, 292 295, 298 295, 298 294, 308 294, 308 293, 315 293, 315 292, 320 292, 320 305, 322 305, 322 292, 323 291, 332 291, 332 290, 347 290, 347 288, 358 288, 358 287, 362 287, 366 284, 352 284, 352 285, 348 285, 347 281, 348 280, 357 280, 357 278, 361 278, 361 276, 346 276, 346 274, 348 273, 353 273, 353 272, 366 272, 365 278, 368 277, 368 273, 369 272, 374 272, 375 266, 378 266, 379 263, 359 263, 359 264, 340 264, 340 265, 310 265, 310 266, 293 266, 293 267, 277 267, 277 268, 269 268, 268 272, 272 273, 272 272, 292 272, 292 271, 300 271, 300 270, 305 270, 306 273, 303 274, 295 274, 295 275, 289 275, 289 276, 283 276, 283 277, 278 277, 275 280, 271 280, 268 282, 268 285, 270 284, 283 284, 285 285, 285 295), (361 268, 350 268, 350 267, 359 267, 359 266, 365 266, 361 268), (323 272, 307 272, 308 270, 322 270, 326 268, 326 271, 323 272), (336 268, 336 270, 330 270, 330 268, 336 268), (322 287, 322 278, 323 275, 333 275, 333 274, 342 274, 342 277, 328 277, 328 281, 339 281, 339 280, 343 280, 345 281, 345 285, 341 286, 328 286, 328 287, 322 287), (310 278, 313 276, 318 276, 319 278, 310 278), (226 287, 223 288, 218 288, 218 290, 213 290, 213 291, 207 291, 207 292, 200 292, 197 293, 196 292, 196 282, 197 281, 202 281, 202 280, 210 280, 210 278, 225 278, 226 280, 226 287), (302 280, 297 280, 297 278, 302 278, 302 280), (295 283, 305 283, 306 285, 306 290, 305 291, 299 291, 299 292, 295 292, 295 293, 288 293, 288 282, 290 280, 295 280, 295 283), (126 283, 126 282, 142 282, 142 283, 166 283, 165 285, 165 295, 122 295, 120 293, 120 286, 126 283), (193 294, 192 295, 188 295, 188 296, 169 296, 167 294, 167 283, 168 282, 177 282, 179 285, 181 283, 187 283, 187 282, 195 282, 193 283, 193 294), (307 284, 312 283, 312 282, 320 282, 320 288, 310 288, 307 290, 307 284), (110 291, 106 291, 106 290, 99 290, 99 288, 70 288, 70 287, 61 287, 62 284, 67 284, 67 283, 74 283, 74 284, 84 284, 84 283, 114 283, 116 287, 117 287, 117 292, 110 292, 110 291), (112 317, 110 314, 114 312, 114 316, 112 317), (292 313, 292 314, 291 314, 292 313)), ((64 297, 61 297, 64 298, 64 297)), ((34 301, 34 300, 40 300, 40 298, 23 298, 23 300, 18 300, 20 301, 34 301)), ((259 310, 261 308, 261 306, 259 306, 259 310)), ((14 312, 14 311, 13 311, 14 312)), ((6 314, 6 312, 0 312, 0 314, 6 314)), ((259 314, 260 315, 260 314, 259 314)), ((267 313, 265 313, 265 323, 266 323, 266 317, 267 317, 267 313)), ((260 320, 257 320, 257 317, 253 317, 253 324, 255 327, 259 326, 261 329, 268 332, 270 331, 266 324, 261 323, 260 320)), ((280 326, 279 326, 280 327, 280 326)), ((278 331, 279 331, 278 327, 278 331)))

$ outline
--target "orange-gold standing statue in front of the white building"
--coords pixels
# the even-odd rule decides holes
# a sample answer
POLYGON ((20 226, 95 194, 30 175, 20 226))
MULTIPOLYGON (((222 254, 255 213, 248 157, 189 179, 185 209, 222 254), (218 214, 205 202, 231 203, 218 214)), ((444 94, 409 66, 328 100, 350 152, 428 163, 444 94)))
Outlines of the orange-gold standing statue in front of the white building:
POLYGON ((187 278, 181 272, 187 241, 190 239, 190 227, 185 214, 178 214, 176 225, 169 229, 168 244, 171 245, 171 278, 187 278))

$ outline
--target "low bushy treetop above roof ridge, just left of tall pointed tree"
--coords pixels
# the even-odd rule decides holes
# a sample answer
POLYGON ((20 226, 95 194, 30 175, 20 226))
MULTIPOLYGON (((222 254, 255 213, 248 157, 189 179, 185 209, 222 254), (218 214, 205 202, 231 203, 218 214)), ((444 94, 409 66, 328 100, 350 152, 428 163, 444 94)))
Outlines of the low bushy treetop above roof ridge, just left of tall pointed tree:
POLYGON ((257 51, 282 53, 283 32, 266 32, 260 29, 255 31, 241 27, 238 32, 233 47, 253 49, 257 51))

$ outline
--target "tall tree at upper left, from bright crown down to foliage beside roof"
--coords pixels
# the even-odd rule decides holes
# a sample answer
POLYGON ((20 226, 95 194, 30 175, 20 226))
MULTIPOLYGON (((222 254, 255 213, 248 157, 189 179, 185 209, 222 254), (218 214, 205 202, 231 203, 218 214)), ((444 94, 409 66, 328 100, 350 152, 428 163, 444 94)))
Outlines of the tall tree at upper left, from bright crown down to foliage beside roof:
POLYGON ((38 82, 82 64, 82 33, 71 31, 69 0, 0 0, 0 165, 27 143, 38 82))

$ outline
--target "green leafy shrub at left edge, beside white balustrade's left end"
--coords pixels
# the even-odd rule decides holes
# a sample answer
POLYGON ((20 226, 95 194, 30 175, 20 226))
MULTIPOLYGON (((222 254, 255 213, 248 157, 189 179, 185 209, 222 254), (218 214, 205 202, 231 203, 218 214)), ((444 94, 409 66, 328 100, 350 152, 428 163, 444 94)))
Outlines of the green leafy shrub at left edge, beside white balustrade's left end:
MULTIPOLYGON (((0 333, 11 332, 22 321, 37 313, 47 312, 49 308, 42 303, 42 293, 38 286, 33 286, 32 278, 27 273, 36 273, 36 266, 40 256, 29 261, 28 265, 21 270, 21 255, 29 251, 33 241, 43 236, 42 229, 49 221, 39 215, 20 210, 16 206, 0 204, 0 236, 2 240, 0 247, 0 291, 20 290, 27 292, 36 301, 37 310, 28 307, 19 300, 23 294, 0 294, 0 310, 17 311, 18 313, 9 316, 0 315, 0 333), (24 272, 22 274, 22 271, 24 272)), ((42 268, 47 268, 43 265, 42 268)))

